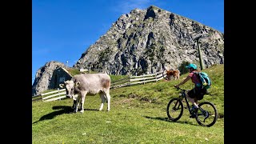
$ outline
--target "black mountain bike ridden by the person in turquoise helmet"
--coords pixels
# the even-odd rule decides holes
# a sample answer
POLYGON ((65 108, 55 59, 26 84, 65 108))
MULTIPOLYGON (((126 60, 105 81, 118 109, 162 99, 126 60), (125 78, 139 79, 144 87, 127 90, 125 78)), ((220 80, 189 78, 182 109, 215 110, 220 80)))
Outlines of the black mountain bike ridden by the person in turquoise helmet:
MULTIPOLYGON (((170 99, 170 102, 167 105, 167 116, 171 121, 176 122, 179 118, 182 117, 183 114, 183 98, 185 99, 186 106, 190 112, 190 115, 193 114, 193 110, 190 108, 190 104, 186 98, 186 92, 188 90, 183 90, 181 88, 177 88, 178 90, 182 90, 182 93, 178 98, 170 99)), ((194 118, 197 120, 198 124, 201 126, 213 126, 217 121, 218 112, 216 107, 211 102, 201 102, 198 104, 198 110, 194 112, 194 118)))

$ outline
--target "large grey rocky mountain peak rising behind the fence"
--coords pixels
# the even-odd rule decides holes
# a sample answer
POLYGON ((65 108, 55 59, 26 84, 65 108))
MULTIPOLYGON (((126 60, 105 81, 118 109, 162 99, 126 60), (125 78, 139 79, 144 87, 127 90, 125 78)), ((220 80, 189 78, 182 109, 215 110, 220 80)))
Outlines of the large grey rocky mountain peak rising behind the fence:
POLYGON ((194 38, 204 65, 224 63, 224 34, 181 15, 150 6, 122 14, 82 54, 74 68, 86 68, 108 74, 152 74, 177 69, 182 62, 199 63, 194 38))

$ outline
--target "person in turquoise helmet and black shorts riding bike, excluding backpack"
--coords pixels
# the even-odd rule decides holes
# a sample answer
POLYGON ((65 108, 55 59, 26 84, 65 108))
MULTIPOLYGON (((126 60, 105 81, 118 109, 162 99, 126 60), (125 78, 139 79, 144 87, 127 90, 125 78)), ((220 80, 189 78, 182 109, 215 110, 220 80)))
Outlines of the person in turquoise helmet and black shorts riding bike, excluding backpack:
MULTIPOLYGON (((193 104, 193 112, 196 112, 198 110, 198 100, 201 100, 204 94, 206 94, 206 89, 202 89, 202 86, 200 86, 200 79, 198 78, 198 75, 194 74, 194 72, 198 72, 198 66, 190 63, 188 66, 186 66, 186 68, 189 69, 190 74, 178 85, 174 85, 174 87, 178 88, 178 86, 183 85, 190 79, 192 80, 192 82, 194 83, 194 88, 188 91, 188 93, 186 94, 186 98, 193 104)), ((192 114, 190 117, 193 118, 194 114, 192 114)))

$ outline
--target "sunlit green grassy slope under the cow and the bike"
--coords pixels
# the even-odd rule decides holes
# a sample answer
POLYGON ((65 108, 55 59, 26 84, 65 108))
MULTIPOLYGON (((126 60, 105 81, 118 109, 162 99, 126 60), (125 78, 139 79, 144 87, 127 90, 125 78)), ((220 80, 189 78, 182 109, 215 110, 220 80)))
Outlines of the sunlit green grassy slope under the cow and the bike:
MULTIPOLYGON (((176 81, 147 83, 110 90, 111 107, 98 111, 99 95, 86 96, 83 114, 70 114, 71 99, 32 102, 32 142, 40 143, 224 143, 224 65, 202 70, 213 82, 202 101, 213 102, 219 118, 211 127, 198 125, 185 109, 170 122, 166 106, 178 97, 176 81)), ((114 76, 112 76, 114 77, 114 76)), ((111 79, 112 80, 112 79, 111 79)), ((182 88, 191 89, 192 82, 182 88)), ((199 102, 202 102, 199 101, 199 102)))

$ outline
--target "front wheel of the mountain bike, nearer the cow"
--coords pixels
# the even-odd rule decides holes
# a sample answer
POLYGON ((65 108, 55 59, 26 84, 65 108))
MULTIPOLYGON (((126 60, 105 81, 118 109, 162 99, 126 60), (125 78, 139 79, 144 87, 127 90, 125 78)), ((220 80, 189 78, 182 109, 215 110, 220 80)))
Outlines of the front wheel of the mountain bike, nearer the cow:
POLYGON ((173 98, 167 105, 167 116, 171 121, 177 121, 182 117, 183 114, 183 104, 179 98, 173 98))

